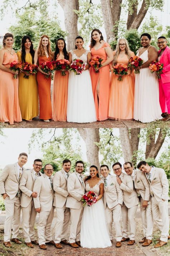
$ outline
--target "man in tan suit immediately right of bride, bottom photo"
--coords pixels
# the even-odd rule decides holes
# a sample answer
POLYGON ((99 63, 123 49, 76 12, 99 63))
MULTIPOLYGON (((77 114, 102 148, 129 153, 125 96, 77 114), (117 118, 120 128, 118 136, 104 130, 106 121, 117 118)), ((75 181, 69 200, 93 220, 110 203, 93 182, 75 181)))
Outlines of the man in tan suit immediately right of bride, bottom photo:
POLYGON ((104 180, 103 202, 110 241, 113 241, 112 223, 114 221, 116 247, 121 247, 121 206, 123 204, 123 192, 120 189, 116 177, 109 174, 110 171, 107 165, 101 165, 100 172, 104 180))

